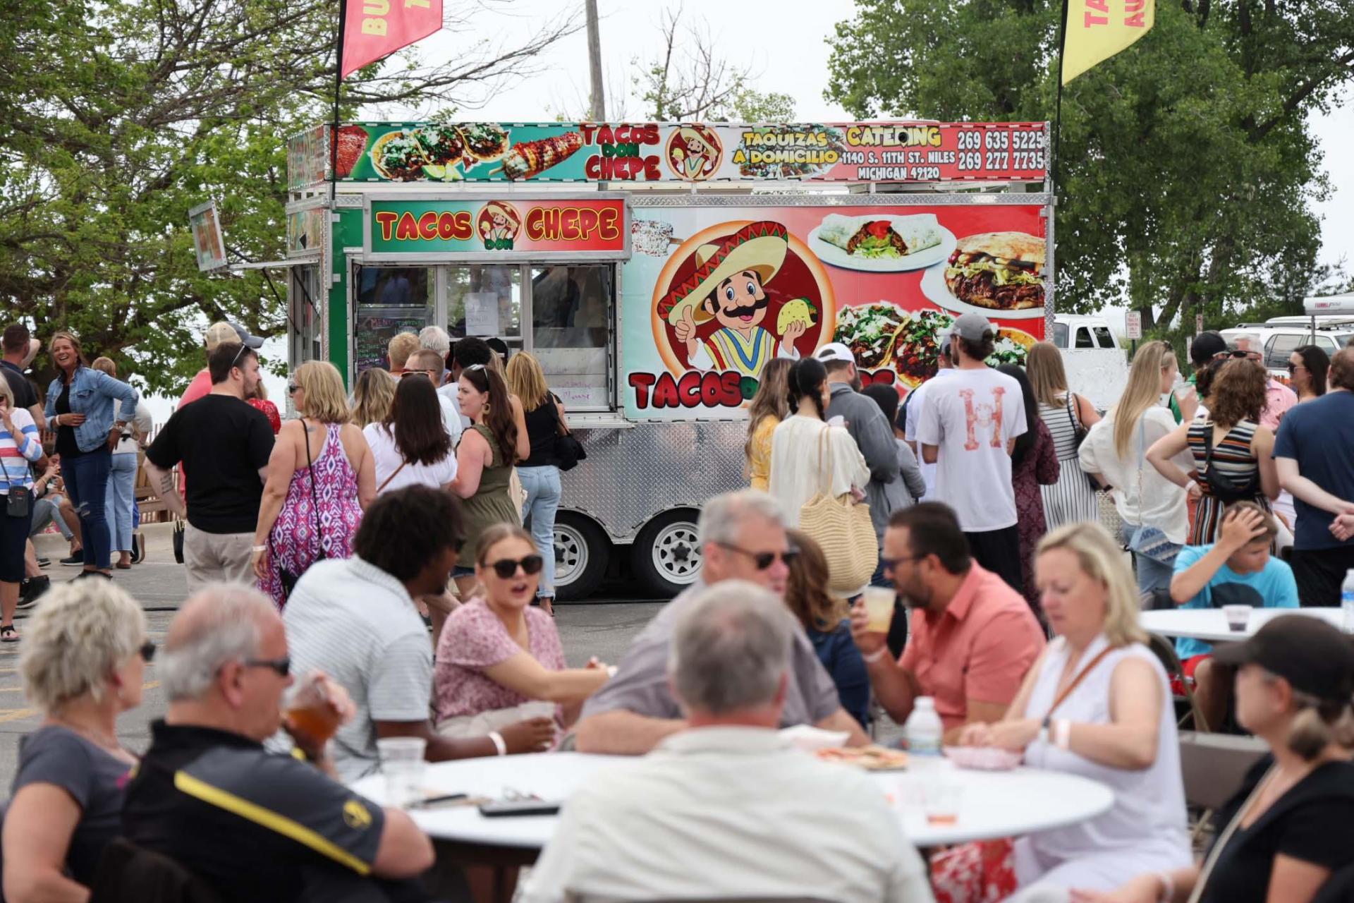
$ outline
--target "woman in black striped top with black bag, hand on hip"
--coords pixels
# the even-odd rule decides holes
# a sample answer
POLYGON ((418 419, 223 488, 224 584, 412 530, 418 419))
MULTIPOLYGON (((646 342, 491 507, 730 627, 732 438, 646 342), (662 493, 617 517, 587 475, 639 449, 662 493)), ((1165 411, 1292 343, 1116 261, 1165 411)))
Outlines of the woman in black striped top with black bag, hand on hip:
POLYGON ((1254 501, 1269 513, 1270 501, 1278 498, 1274 431, 1259 425, 1267 382, 1265 368, 1250 360, 1224 364, 1213 379, 1208 418, 1181 424, 1147 451, 1147 460, 1162 477, 1198 498, 1189 546, 1217 542, 1227 505, 1254 501), (1170 462, 1186 449, 1194 456, 1194 470, 1189 474, 1170 462), (1212 463, 1208 463, 1210 454, 1212 463), (1238 491, 1219 495, 1205 477, 1209 467, 1231 481, 1238 491))

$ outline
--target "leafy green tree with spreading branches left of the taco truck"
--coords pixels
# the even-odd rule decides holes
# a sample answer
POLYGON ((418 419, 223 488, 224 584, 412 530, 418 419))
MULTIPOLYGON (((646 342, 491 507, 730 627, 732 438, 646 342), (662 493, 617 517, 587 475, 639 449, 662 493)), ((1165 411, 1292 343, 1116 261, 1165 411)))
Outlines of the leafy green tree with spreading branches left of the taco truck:
MULTIPOLYGON (((284 310, 257 271, 196 269, 188 208, 218 200, 237 259, 278 260, 286 138, 330 118, 329 0, 30 0, 0 20, 0 309, 39 336, 74 329, 148 387, 202 364, 200 324, 269 336, 284 310)), ((451 7, 452 4, 447 4, 451 7)), ((483 28, 483 7, 448 27, 483 28)), ((432 65, 403 54, 344 84, 364 104, 456 104, 533 70, 577 26, 478 41, 432 65)))

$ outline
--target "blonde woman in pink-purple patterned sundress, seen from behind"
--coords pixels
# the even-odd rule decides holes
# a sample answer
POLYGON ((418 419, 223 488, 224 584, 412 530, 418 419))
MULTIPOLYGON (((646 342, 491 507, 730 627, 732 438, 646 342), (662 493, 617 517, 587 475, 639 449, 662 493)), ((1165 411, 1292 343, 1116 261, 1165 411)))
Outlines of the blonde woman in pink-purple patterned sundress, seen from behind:
POLYGON ((321 558, 348 558, 362 512, 376 497, 376 464, 367 439, 348 422, 343 378, 333 364, 297 367, 287 386, 301 413, 278 435, 255 531, 259 589, 280 609, 283 571, 294 578, 321 558))

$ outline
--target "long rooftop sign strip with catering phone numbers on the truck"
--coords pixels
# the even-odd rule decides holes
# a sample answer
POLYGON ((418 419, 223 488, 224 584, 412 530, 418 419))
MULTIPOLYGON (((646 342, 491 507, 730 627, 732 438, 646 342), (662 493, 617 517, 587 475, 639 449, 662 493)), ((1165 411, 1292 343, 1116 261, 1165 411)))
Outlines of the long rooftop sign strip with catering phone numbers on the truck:
POLYGON ((338 127, 344 181, 1044 181, 1043 122, 380 123, 338 127))

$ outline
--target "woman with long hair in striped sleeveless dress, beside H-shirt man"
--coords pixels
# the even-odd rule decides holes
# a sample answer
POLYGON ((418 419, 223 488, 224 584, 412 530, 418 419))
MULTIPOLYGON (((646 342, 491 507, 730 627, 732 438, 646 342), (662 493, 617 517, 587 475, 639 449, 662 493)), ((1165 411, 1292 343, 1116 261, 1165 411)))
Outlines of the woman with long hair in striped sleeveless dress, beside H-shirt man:
POLYGON ((1057 482, 1040 487, 1049 532, 1074 521, 1099 520, 1095 490, 1076 463, 1076 439, 1099 422, 1099 414, 1089 401, 1067 387, 1063 353, 1052 343, 1036 343, 1029 349, 1025 372, 1039 402, 1039 416, 1053 437, 1053 454, 1060 464, 1057 482))

